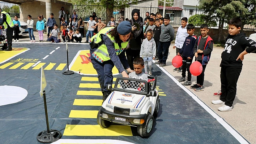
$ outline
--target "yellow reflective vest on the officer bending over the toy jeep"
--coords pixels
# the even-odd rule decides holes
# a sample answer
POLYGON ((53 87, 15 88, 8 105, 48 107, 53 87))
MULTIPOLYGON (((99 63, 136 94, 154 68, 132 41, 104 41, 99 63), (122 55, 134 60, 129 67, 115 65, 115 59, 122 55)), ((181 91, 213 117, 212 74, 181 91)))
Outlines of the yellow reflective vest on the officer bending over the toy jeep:
POLYGON ((93 52, 92 56, 95 58, 95 60, 103 63, 104 61, 110 60, 108 51, 107 51, 107 46, 102 43, 102 35, 108 36, 108 38, 112 41, 113 46, 116 51, 116 55, 119 55, 124 49, 127 47, 128 42, 122 42, 121 47, 119 47, 118 43, 115 42, 114 37, 112 37, 109 32, 113 30, 114 27, 106 27, 102 29, 101 31, 98 32, 98 34, 94 35, 90 42, 94 44, 99 44, 98 48, 93 52))

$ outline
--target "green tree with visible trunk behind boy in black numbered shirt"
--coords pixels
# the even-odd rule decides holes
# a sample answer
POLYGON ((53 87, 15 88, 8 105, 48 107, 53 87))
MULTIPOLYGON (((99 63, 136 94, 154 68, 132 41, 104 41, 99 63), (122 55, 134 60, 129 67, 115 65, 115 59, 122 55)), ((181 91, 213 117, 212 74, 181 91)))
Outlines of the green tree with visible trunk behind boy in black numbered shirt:
MULTIPOLYGON (((209 17, 219 19, 218 42, 225 22, 233 17, 245 16, 248 9, 244 7, 246 0, 200 0, 199 8, 204 9, 209 17)), ((243 17, 242 17, 243 18, 243 17)))

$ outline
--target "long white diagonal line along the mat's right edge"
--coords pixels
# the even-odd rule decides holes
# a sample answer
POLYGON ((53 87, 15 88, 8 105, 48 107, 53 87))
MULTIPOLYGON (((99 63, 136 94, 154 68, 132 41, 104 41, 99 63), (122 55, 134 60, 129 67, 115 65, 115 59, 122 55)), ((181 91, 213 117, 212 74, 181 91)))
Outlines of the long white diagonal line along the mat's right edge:
MULTIPOLYGON (((159 67, 159 65, 157 65, 159 67)), ((237 132, 232 126, 229 125, 225 121, 225 119, 221 118, 217 113, 215 113, 208 105, 206 105, 197 95, 189 91, 185 86, 183 86, 174 76, 168 73, 163 67, 159 67, 165 74, 167 74, 179 87, 181 87, 185 92, 187 92, 198 104, 202 106, 210 115, 212 115, 216 120, 224 127, 227 131, 230 132, 231 135, 234 136, 236 140, 238 140, 241 144, 249 144, 248 141, 237 132)))

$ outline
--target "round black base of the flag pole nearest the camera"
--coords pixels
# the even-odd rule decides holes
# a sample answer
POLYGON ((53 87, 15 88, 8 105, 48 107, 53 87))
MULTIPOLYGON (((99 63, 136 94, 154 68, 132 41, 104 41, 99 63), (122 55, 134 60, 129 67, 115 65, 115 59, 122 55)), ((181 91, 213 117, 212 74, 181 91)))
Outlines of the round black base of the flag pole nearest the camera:
POLYGON ((40 143, 53 143, 54 141, 59 140, 61 136, 62 134, 58 130, 50 130, 50 133, 48 133, 47 130, 45 130, 45 131, 41 131, 37 135, 37 140, 40 143))

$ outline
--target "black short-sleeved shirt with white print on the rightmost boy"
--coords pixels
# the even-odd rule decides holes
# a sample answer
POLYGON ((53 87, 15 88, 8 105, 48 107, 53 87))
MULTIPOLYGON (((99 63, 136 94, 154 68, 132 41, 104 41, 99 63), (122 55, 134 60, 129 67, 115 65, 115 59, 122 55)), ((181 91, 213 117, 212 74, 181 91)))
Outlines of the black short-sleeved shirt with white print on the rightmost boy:
POLYGON ((221 54, 220 67, 242 68, 242 61, 240 59, 236 60, 236 58, 245 49, 248 53, 253 52, 256 49, 256 43, 249 39, 244 33, 227 35, 225 48, 221 54), (248 48, 246 49, 246 47, 248 48))

